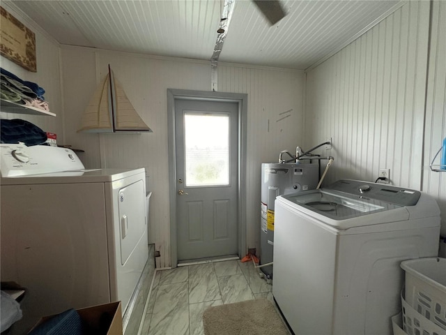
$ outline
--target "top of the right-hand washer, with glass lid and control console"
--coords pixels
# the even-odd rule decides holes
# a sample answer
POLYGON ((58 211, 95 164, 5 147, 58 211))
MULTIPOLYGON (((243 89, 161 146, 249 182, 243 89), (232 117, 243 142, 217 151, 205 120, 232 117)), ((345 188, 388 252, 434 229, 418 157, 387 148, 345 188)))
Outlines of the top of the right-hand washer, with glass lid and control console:
POLYGON ((440 209, 430 195, 367 181, 341 179, 319 190, 280 195, 276 209, 277 202, 304 219, 337 231, 358 228, 354 229, 357 233, 366 226, 374 226, 367 231, 440 226, 440 209))

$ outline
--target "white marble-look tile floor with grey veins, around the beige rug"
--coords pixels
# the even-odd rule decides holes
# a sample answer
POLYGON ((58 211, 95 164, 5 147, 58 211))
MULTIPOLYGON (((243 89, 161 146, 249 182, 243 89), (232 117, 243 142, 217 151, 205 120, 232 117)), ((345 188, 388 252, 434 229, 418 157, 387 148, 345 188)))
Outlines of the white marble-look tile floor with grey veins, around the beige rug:
POLYGON ((141 335, 200 335, 208 306, 266 298, 272 285, 252 262, 226 260, 156 271, 141 335))

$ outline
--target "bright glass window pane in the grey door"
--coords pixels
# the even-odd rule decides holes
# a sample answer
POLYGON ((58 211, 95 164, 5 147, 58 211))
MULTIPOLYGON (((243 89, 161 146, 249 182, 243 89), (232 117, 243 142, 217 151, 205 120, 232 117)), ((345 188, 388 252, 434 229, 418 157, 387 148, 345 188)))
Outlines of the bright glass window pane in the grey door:
POLYGON ((229 185, 229 115, 185 113, 186 186, 229 185))

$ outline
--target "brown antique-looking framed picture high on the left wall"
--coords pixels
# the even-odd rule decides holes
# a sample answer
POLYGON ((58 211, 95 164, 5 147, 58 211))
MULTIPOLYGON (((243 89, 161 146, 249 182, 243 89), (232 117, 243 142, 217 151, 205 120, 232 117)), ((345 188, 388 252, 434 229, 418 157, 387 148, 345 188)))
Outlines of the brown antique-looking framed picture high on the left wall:
POLYGON ((0 6, 0 54, 31 72, 37 72, 36 34, 0 6))

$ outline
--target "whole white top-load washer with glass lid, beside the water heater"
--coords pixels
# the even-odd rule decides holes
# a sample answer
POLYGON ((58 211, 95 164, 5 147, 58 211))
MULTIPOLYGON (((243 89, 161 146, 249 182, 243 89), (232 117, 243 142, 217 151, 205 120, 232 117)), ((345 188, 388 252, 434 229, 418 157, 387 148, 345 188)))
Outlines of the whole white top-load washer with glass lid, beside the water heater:
POLYGON ((367 181, 275 201, 272 294, 295 334, 391 335, 401 261, 438 255, 429 195, 367 181))

